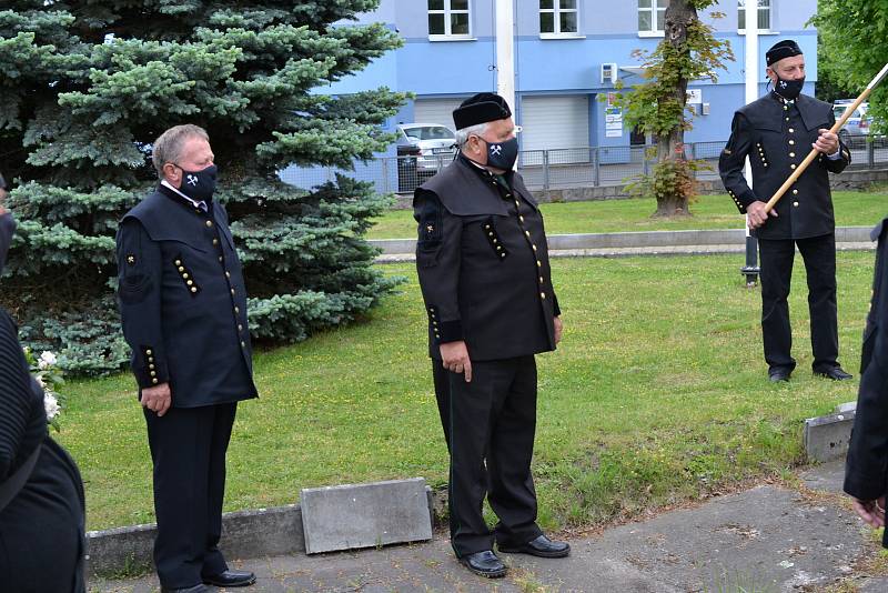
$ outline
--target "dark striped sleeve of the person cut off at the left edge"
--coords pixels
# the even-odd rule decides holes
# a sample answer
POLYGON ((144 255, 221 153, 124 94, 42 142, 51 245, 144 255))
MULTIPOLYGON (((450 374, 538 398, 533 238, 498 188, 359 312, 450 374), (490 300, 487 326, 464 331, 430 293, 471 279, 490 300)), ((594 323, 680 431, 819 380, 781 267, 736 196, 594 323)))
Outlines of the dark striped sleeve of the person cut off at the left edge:
POLYGON ((32 410, 31 376, 16 324, 0 310, 0 483, 20 453, 32 410))

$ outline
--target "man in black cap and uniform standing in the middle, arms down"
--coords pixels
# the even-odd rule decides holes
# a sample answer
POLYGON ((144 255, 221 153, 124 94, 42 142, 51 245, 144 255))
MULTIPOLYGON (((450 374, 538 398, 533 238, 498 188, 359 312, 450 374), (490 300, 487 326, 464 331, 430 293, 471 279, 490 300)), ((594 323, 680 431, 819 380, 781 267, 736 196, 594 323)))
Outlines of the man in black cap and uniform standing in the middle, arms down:
POLYGON ((416 268, 451 452, 451 543, 472 572, 506 573, 493 553, 561 557, 536 524, 531 476, 534 354, 561 340, 539 209, 512 168, 517 139, 503 98, 480 93, 453 112, 461 153, 416 190, 416 268), (500 522, 484 522, 485 495, 500 522))

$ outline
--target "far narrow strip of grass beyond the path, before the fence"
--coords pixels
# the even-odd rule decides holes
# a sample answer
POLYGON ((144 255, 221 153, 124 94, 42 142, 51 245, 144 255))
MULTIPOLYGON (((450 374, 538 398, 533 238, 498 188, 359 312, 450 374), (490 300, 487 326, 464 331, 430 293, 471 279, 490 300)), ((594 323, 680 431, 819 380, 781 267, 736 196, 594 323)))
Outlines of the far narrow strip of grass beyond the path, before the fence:
MULTIPOLYGON (((837 191, 833 201, 839 227, 875 224, 874 221, 888 214, 888 193, 837 191)), ((726 194, 700 195, 690 207, 694 215, 680 220, 652 219, 656 205, 650 198, 545 203, 542 209, 549 234, 741 229, 744 225, 744 217, 726 194)), ((391 210, 376 219, 367 238, 406 239, 415 235, 413 211, 391 210)))

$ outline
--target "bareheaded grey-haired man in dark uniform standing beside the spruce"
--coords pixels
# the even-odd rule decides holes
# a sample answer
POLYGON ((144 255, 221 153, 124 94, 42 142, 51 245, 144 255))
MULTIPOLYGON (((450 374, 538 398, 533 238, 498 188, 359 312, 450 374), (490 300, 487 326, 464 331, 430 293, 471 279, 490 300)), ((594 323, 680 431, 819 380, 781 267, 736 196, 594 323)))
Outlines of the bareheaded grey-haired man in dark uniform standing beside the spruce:
POLYGON ((154 463, 154 564, 163 591, 245 586, 253 573, 218 547, 235 410, 256 396, 243 274, 206 132, 167 130, 152 160, 161 182, 123 217, 118 267, 154 463))

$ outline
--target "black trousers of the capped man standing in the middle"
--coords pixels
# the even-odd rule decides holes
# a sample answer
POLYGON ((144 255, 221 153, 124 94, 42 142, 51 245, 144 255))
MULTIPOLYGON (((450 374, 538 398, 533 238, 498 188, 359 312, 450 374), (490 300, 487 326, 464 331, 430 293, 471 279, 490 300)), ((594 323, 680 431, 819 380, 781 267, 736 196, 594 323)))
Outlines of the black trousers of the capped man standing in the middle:
POLYGON ((451 545, 457 557, 521 545, 542 534, 531 459, 536 430, 533 355, 472 363, 473 379, 433 361, 435 395, 451 453, 451 545), (484 521, 484 499, 500 519, 484 521))

